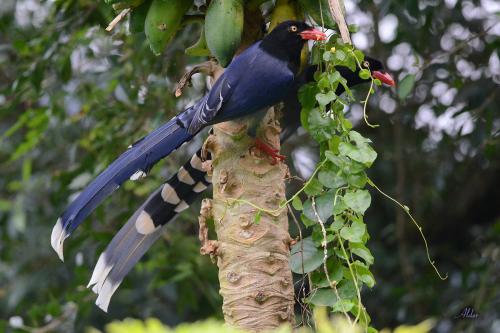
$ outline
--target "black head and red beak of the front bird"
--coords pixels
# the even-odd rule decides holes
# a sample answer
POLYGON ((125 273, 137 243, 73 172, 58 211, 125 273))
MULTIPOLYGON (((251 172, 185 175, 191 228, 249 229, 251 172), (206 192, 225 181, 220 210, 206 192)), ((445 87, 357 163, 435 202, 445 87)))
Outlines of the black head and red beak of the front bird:
POLYGON ((326 35, 302 21, 278 24, 264 39, 261 47, 269 54, 300 66, 300 52, 308 40, 325 40, 326 35))

